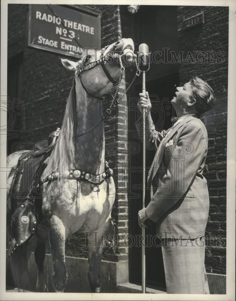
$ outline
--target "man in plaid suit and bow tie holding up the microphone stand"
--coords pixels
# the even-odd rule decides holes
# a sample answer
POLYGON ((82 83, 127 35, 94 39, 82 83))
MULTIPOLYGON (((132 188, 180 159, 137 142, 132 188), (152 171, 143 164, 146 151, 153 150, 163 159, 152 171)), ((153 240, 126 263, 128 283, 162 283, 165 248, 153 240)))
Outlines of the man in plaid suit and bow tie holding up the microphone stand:
MULTIPOLYGON (((200 114, 214 104, 214 92, 198 77, 176 88, 171 103, 177 122, 162 132, 155 130, 148 92, 139 96, 139 110, 146 109, 146 147, 157 149, 147 179, 151 200, 138 213, 139 225, 156 223, 167 293, 209 293, 204 265, 209 195, 203 176, 208 138, 200 114)), ((136 127, 142 130, 138 122, 136 127)))

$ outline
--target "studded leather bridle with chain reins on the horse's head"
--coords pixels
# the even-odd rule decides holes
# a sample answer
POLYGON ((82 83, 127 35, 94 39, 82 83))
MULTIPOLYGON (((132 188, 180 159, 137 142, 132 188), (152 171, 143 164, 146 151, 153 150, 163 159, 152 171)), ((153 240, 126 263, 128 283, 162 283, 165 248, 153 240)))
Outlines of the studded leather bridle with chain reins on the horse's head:
POLYGON ((76 137, 80 137, 82 135, 85 135, 87 134, 88 132, 90 132, 92 129, 94 129, 96 126, 98 126, 102 121, 103 119, 106 118, 106 116, 108 116, 110 113, 111 113, 111 108, 117 103, 119 103, 119 101, 124 97, 124 95, 127 93, 127 91, 129 90, 129 88, 131 87, 131 85, 133 84, 133 82, 135 81, 136 77, 140 75, 140 70, 139 70, 139 67, 138 67, 138 64, 137 64, 137 61, 135 59, 135 63, 136 63, 136 68, 137 68, 137 71, 135 73, 135 76, 134 78, 132 79, 131 83, 129 84, 129 86, 127 87, 127 89, 125 90, 125 92, 121 95, 120 98, 118 99, 115 99, 117 94, 118 94, 118 90, 119 90, 119 87, 120 87, 120 84, 121 84, 121 80, 122 80, 122 77, 123 77, 123 72, 124 72, 124 66, 122 64, 122 61, 121 61, 121 56, 118 54, 118 53, 115 53, 113 56, 111 56, 109 53, 107 53, 105 56, 104 56, 104 51, 106 50, 106 48, 109 47, 109 46, 106 46, 104 48, 101 49, 101 57, 99 60, 97 61, 94 61, 94 62, 90 62, 88 63, 87 65, 85 65, 84 67, 80 68, 79 66, 79 63, 80 61, 78 61, 77 63, 77 66, 75 68, 75 76, 78 76, 79 77, 79 80, 81 82, 81 85, 84 89, 84 91, 92 98, 96 98, 96 99, 99 99, 99 100, 106 100, 106 96, 107 95, 104 95, 102 98, 101 97, 97 97, 95 95, 92 95, 90 94, 88 91, 87 91, 87 88, 84 86, 83 82, 82 82, 82 79, 81 79, 81 76, 80 74, 84 71, 87 71, 87 70, 90 70, 92 68, 94 68, 95 66, 97 66, 98 64, 100 64, 103 68, 103 71, 104 73, 106 74, 106 77, 109 79, 109 81, 113 84, 113 86, 116 86, 117 85, 117 88, 115 90, 115 94, 114 96, 112 95, 112 102, 111 104, 109 105, 109 107, 106 109, 106 112, 103 114, 102 118, 93 126, 91 127, 90 129, 88 129, 87 131, 85 131, 84 133, 80 134, 80 135, 76 135, 76 137), (119 77, 119 79, 117 81, 115 81, 115 79, 112 78, 112 76, 109 74, 109 72, 107 71, 106 67, 104 66, 104 64, 106 64, 106 62, 111 59, 111 58, 118 58, 119 59, 119 63, 120 63, 120 70, 121 70, 121 75, 119 77))

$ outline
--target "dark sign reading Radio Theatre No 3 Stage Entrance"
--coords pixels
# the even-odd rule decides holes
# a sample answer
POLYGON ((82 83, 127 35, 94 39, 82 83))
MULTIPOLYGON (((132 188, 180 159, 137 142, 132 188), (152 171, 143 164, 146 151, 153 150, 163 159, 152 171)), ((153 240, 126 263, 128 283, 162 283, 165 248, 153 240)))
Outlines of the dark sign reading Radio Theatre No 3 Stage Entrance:
POLYGON ((29 6, 28 45, 81 58, 84 48, 101 47, 100 14, 61 5, 29 6))

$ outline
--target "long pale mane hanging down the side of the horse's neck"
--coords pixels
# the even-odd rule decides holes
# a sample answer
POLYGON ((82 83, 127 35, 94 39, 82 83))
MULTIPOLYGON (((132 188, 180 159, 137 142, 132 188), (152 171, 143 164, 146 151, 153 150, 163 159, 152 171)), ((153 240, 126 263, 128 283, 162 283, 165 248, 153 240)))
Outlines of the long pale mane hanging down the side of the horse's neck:
POLYGON ((51 154, 48 168, 60 172, 60 179, 66 178, 66 173, 75 164, 74 133, 76 126, 76 91, 75 78, 67 98, 66 110, 63 117, 62 128, 57 143, 51 154))

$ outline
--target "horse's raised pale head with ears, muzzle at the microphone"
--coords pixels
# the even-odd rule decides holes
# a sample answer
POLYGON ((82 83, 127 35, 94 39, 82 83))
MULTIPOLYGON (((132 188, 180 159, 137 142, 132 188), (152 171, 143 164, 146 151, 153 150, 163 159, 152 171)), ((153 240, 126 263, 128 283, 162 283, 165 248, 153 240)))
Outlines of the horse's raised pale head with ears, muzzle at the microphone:
POLYGON ((133 64, 132 39, 121 39, 102 50, 89 49, 78 62, 61 59, 69 70, 75 71, 76 83, 82 84, 90 95, 102 97, 115 91, 121 71, 133 64))

